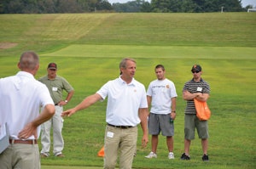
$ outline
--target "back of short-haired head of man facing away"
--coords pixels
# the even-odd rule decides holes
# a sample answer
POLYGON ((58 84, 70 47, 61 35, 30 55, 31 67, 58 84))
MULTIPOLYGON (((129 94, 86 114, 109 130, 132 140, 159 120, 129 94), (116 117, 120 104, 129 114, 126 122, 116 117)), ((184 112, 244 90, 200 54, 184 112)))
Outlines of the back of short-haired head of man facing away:
POLYGON ((34 70, 39 64, 38 54, 32 51, 26 51, 20 55, 20 69, 34 70))

